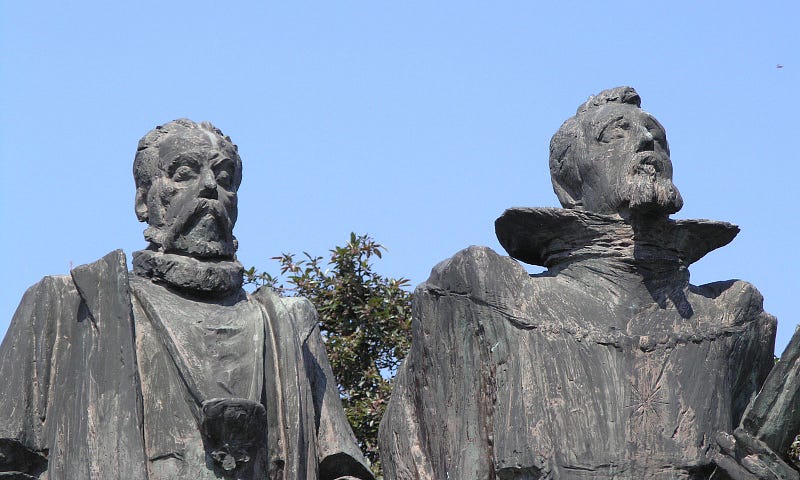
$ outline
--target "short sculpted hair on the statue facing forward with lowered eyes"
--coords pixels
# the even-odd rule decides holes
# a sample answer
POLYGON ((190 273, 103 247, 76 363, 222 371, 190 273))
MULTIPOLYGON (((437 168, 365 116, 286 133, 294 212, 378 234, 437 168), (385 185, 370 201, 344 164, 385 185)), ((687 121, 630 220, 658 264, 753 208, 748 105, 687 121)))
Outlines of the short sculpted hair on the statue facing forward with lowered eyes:
POLYGON ((238 189, 242 182, 242 161, 238 154, 239 148, 231 141, 230 137, 223 134, 210 122, 195 123, 188 118, 180 118, 150 130, 139 140, 136 157, 133 159, 133 179, 136 182, 136 190, 149 190, 153 179, 160 174, 158 146, 164 139, 172 135, 192 137, 198 133, 214 135, 218 142, 227 144, 236 152, 233 160, 236 162, 237 173, 233 180, 234 186, 238 189))

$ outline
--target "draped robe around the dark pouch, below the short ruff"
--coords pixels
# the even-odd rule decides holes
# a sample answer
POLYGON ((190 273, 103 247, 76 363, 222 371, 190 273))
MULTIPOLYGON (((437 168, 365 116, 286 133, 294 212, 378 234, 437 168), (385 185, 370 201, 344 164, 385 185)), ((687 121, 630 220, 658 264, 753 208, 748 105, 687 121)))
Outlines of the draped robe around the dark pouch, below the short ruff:
POLYGON ((266 409, 253 478, 372 478, 307 300, 242 291, 194 319, 170 309, 180 302, 129 277, 121 251, 31 287, 0 347, 0 472, 216 478, 195 413, 219 396, 266 409))

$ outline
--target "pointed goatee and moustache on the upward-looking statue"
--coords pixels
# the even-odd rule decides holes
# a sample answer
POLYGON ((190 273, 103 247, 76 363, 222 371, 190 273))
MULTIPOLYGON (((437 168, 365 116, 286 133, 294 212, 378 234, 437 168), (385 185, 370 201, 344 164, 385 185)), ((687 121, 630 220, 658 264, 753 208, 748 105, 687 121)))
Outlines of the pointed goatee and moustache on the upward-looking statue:
POLYGON ((625 167, 623 182, 617 188, 620 204, 631 210, 671 214, 683 207, 683 198, 672 183, 669 158, 653 152, 634 155, 625 167))

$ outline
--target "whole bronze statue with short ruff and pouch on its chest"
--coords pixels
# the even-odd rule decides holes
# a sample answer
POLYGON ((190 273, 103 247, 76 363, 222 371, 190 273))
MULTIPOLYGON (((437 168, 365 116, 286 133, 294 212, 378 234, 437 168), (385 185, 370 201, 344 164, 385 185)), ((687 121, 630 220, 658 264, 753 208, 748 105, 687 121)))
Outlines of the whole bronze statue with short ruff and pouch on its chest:
MULTIPOLYGON (((13 478, 372 479, 316 312, 242 290, 241 159, 209 123, 134 161, 146 250, 45 277, 0 347, 0 472, 13 478)), ((0 474, 2 476, 2 474, 0 474)))

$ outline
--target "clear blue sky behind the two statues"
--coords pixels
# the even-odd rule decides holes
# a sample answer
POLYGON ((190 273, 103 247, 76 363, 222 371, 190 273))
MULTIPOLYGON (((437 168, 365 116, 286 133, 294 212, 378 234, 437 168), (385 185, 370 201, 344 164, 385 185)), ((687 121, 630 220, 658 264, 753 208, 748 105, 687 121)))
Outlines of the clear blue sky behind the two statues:
POLYGON ((0 332, 42 276, 145 246, 131 165, 158 124, 239 145, 245 266, 355 231, 418 284, 468 245, 502 251, 505 208, 556 206, 550 136, 631 85, 667 129, 674 218, 742 228, 693 283, 755 284, 781 351, 800 322, 800 7, 711 4, 3 2, 0 332))

